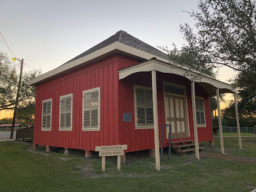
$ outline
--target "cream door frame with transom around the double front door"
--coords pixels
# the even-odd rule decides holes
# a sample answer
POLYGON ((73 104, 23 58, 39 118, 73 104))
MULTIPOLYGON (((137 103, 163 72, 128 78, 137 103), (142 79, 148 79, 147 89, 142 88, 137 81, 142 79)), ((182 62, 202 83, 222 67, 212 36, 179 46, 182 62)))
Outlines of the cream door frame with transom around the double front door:
MULTIPOLYGON (((176 138, 173 138, 173 139, 181 139, 181 138, 188 138, 190 137, 190 129, 189 129, 189 118, 188 118, 188 99, 187 99, 187 95, 186 95, 186 86, 184 85, 179 85, 179 84, 176 84, 176 83, 171 83, 171 82, 165 82, 163 81, 163 94, 164 94, 164 123, 166 123, 166 114, 165 114, 165 107, 167 106, 166 104, 166 94, 167 95, 173 95, 173 96, 178 96, 178 97, 184 97, 184 107, 185 107, 185 120, 186 120, 186 136, 185 137, 176 137, 176 138), (165 85, 171 85, 173 87, 179 87, 179 88, 183 88, 184 90, 184 96, 183 95, 177 95, 177 94, 174 94, 174 93, 166 93, 165 92, 165 85)), ((168 133, 169 133, 169 130, 166 129, 166 135, 168 136, 168 133)), ((171 138, 172 139, 172 138, 171 138)))

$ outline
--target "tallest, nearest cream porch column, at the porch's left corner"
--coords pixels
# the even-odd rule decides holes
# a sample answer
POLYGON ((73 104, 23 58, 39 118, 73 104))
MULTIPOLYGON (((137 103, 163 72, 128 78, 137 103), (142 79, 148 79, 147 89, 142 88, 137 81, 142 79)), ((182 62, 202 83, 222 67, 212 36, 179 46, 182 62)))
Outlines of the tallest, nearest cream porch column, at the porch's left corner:
POLYGON ((151 71, 152 75, 152 99, 153 99, 153 114, 154 114, 154 141, 156 152, 156 171, 160 171, 160 152, 159 152, 159 129, 157 115, 157 88, 156 88, 156 71, 151 71))

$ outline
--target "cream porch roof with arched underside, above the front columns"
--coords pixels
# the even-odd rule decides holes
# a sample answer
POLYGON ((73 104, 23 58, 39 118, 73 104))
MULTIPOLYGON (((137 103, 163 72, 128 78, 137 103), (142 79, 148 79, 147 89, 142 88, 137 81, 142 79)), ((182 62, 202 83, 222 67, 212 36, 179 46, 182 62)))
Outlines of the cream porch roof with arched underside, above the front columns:
POLYGON ((201 87, 206 90, 209 96, 216 95, 216 88, 219 88, 220 93, 237 92, 237 89, 232 85, 216 80, 216 78, 211 77, 210 75, 192 72, 186 67, 169 65, 169 63, 157 60, 156 58, 152 58, 149 61, 144 61, 142 63, 138 63, 137 65, 132 65, 131 67, 119 70, 119 80, 122 80, 134 73, 151 71, 181 75, 189 80, 193 80, 194 82, 199 83, 201 87), (195 78, 195 75, 198 78, 195 78))

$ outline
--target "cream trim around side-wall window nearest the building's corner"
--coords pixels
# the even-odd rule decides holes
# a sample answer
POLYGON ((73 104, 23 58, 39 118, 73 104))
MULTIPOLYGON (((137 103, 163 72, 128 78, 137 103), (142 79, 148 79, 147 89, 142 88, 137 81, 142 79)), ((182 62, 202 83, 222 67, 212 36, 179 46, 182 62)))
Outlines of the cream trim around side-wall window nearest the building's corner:
MULTIPOLYGON (((98 124, 98 127, 97 128, 83 128, 83 120, 84 120, 84 118, 83 118, 83 115, 84 115, 84 98, 83 98, 83 105, 82 105, 82 131, 100 131, 100 87, 96 87, 96 88, 91 88, 91 89, 88 89, 88 90, 84 90, 83 91, 83 95, 85 94, 85 93, 87 93, 87 92, 93 92, 93 91, 95 91, 95 90, 98 90, 98 92, 99 92, 99 97, 98 97, 98 100, 99 100, 99 107, 98 107, 98 122, 99 122, 99 124, 98 124)), ((82 97, 83 97, 83 95, 82 95, 82 97)))

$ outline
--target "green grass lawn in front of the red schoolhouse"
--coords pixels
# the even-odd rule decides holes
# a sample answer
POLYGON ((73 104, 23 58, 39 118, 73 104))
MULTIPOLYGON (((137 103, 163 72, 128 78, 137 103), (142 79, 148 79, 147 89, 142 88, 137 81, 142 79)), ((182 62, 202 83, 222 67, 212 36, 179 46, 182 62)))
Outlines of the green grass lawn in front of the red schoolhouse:
MULTIPOLYGON (((226 138, 224 144, 235 146, 233 140, 229 142, 226 138)), ((0 142, 0 191, 252 191, 256 188, 256 164, 204 158, 196 161, 194 154, 172 153, 171 161, 164 159, 161 171, 156 172, 154 159, 149 159, 144 151, 127 154, 127 164, 119 172, 115 171, 116 158, 107 157, 106 172, 102 173, 99 158, 46 153, 43 148, 29 152, 31 146, 0 142)), ((249 146, 255 144, 245 147, 249 146)))

